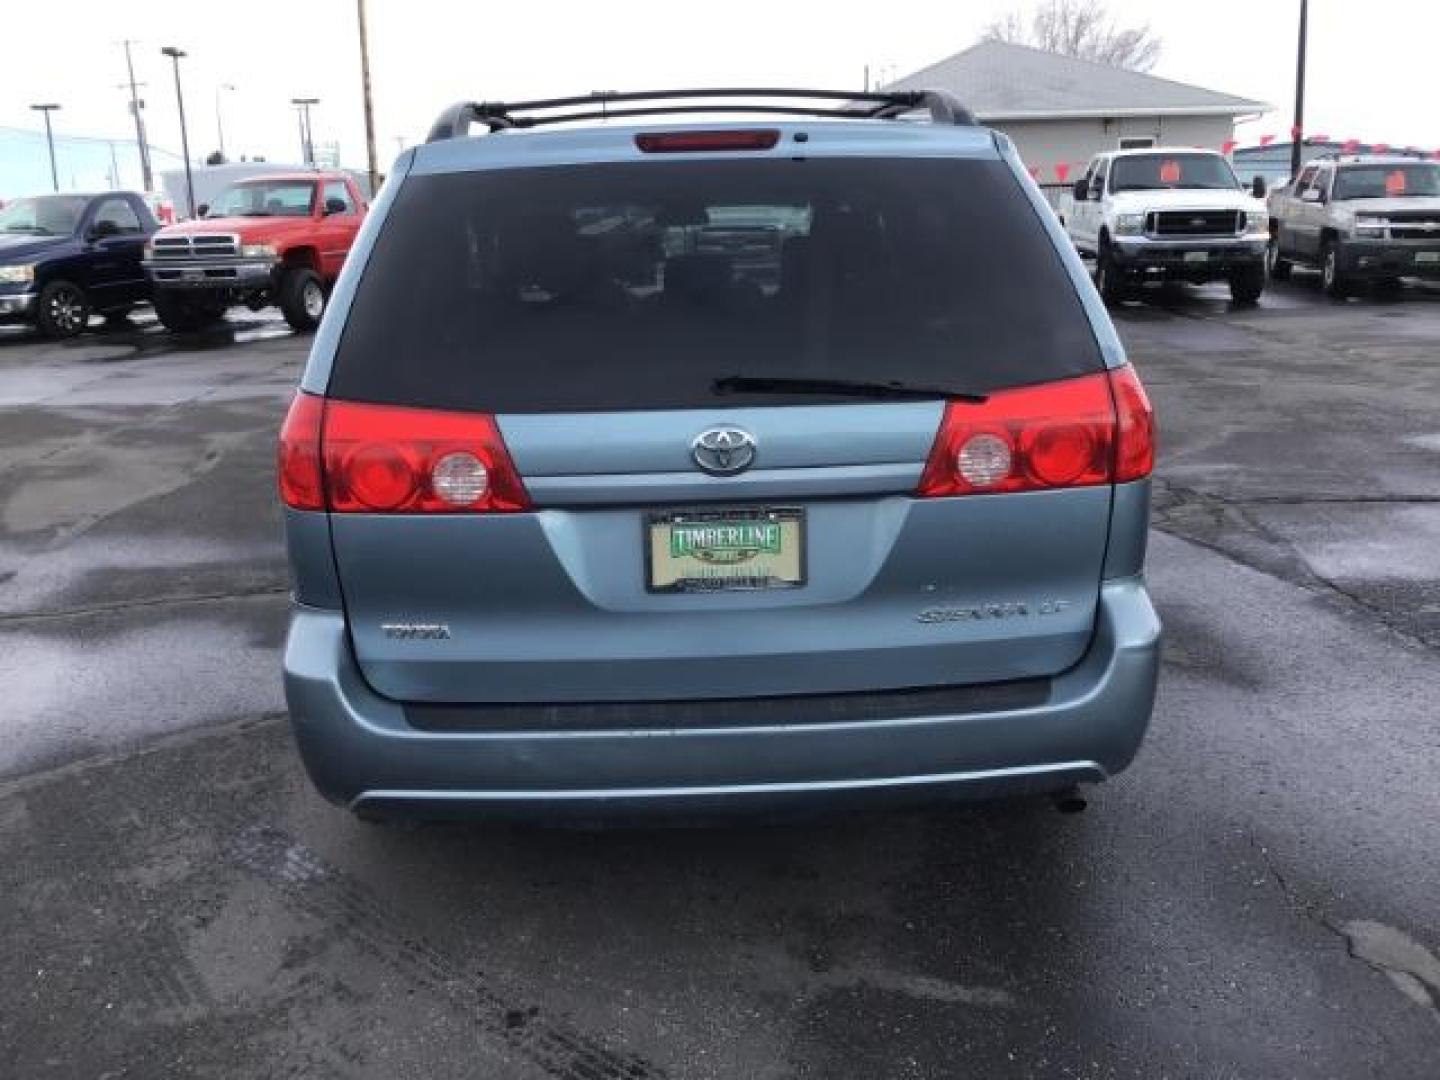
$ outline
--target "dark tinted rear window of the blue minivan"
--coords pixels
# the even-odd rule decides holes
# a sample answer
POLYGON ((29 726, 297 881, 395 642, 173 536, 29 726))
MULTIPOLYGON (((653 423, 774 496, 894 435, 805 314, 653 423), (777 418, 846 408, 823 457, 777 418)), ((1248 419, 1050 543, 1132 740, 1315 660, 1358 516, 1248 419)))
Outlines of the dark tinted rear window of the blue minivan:
POLYGON ((714 405, 730 376, 989 392, 1100 367, 999 161, 647 161, 406 180, 330 393, 685 409, 714 405))

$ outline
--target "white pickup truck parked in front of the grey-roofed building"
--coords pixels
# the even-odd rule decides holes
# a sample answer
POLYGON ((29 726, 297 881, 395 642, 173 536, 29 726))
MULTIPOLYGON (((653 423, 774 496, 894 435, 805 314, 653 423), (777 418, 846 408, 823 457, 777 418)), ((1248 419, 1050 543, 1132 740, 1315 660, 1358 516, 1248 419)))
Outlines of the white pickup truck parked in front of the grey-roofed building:
POLYGON ((1228 281, 1237 304, 1254 304, 1266 282, 1263 196, 1263 180, 1246 189, 1211 150, 1115 150, 1090 161, 1057 212, 1094 258, 1107 302, 1148 281, 1228 281))

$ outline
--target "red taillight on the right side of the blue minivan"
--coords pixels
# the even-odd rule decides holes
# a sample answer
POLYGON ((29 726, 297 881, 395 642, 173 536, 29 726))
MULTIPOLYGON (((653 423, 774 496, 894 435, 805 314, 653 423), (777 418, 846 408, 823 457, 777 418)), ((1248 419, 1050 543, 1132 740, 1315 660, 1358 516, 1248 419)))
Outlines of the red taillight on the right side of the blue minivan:
POLYGON ((1139 480, 1152 461, 1149 402, 1122 367, 948 403, 917 494, 1090 487, 1139 480))

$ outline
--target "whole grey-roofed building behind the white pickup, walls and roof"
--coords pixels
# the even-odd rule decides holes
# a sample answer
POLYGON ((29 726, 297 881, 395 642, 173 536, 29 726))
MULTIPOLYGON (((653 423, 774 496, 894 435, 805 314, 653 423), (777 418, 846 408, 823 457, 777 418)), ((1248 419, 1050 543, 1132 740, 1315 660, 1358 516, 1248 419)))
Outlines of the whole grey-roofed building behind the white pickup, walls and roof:
POLYGON ((1260 101, 1024 45, 982 42, 886 89, 948 89, 1004 131, 1041 183, 1074 179, 1102 150, 1184 145, 1220 150, 1260 101))

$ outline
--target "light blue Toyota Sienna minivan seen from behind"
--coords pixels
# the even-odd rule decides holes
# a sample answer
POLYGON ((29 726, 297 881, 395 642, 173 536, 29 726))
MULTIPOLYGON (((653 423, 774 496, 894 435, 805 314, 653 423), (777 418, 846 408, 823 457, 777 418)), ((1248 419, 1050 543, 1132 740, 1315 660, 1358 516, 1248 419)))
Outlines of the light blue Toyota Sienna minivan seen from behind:
POLYGON ((458 105, 396 163, 281 433, 330 799, 816 806, 1135 756, 1152 420, 1081 262, 948 95, 763 94, 458 105))

